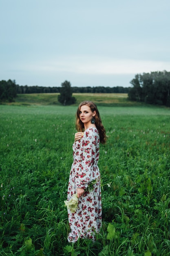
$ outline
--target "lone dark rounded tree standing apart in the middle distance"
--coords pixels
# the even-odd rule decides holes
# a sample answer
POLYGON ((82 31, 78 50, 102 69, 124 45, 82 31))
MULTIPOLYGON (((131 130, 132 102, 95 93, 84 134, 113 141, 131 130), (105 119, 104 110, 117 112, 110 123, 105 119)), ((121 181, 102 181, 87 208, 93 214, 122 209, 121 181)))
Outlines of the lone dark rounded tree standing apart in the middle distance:
POLYGON ((58 101, 65 105, 71 105, 76 102, 75 97, 72 97, 72 88, 71 83, 65 81, 61 84, 62 88, 60 89, 60 94, 58 95, 58 101))

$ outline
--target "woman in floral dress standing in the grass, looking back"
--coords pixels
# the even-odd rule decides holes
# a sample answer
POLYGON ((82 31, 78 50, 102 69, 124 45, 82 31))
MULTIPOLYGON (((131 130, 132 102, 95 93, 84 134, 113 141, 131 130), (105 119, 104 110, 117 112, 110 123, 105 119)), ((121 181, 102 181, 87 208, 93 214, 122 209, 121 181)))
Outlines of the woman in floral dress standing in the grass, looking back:
POLYGON ((100 173, 97 163, 99 142, 106 142, 106 131, 97 106, 92 101, 80 103, 77 109, 76 129, 78 132, 75 133, 73 144, 73 164, 67 200, 77 193, 78 206, 75 212, 68 209, 71 228, 68 241, 76 242, 79 237, 94 241, 95 233, 98 233, 102 226, 100 173))

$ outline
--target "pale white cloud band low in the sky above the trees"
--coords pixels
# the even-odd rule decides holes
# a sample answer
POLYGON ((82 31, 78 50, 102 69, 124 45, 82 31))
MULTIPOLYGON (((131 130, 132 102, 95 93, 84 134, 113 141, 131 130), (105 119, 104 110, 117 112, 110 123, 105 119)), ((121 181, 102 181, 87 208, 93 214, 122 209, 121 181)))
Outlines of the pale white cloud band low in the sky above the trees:
MULTIPOLYGON (((21 67, 20 67, 21 68, 21 67)), ((65 56, 56 60, 31 63, 23 67, 34 72, 60 73, 69 72, 73 74, 137 74, 152 71, 170 70, 170 62, 149 61, 133 59, 111 59, 91 56, 65 56)))

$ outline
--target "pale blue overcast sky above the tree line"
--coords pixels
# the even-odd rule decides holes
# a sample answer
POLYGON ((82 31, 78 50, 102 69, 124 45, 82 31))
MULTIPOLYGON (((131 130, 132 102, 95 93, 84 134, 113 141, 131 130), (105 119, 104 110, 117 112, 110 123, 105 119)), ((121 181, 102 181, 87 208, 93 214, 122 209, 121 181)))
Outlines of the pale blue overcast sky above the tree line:
POLYGON ((170 71, 170 0, 0 0, 0 81, 129 87, 170 71))

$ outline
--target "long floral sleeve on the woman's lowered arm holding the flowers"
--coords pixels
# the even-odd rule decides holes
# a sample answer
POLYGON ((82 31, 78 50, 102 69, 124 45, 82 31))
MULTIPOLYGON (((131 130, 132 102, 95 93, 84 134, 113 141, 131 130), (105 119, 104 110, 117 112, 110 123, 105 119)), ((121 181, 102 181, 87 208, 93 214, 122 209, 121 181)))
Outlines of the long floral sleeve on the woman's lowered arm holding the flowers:
POLYGON ((82 147, 80 148, 79 168, 76 172, 76 186, 86 189, 91 182, 93 164, 95 162, 96 152, 96 133, 93 129, 88 129, 84 132, 82 147))

